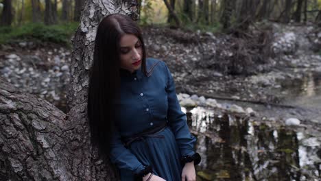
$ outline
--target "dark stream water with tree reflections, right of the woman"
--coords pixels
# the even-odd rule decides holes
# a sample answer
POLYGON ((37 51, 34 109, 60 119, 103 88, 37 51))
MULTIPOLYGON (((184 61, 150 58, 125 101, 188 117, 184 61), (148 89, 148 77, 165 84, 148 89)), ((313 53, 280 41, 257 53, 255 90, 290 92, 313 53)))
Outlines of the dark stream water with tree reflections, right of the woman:
POLYGON ((204 108, 187 114, 202 155, 198 180, 320 180, 318 140, 204 108))

